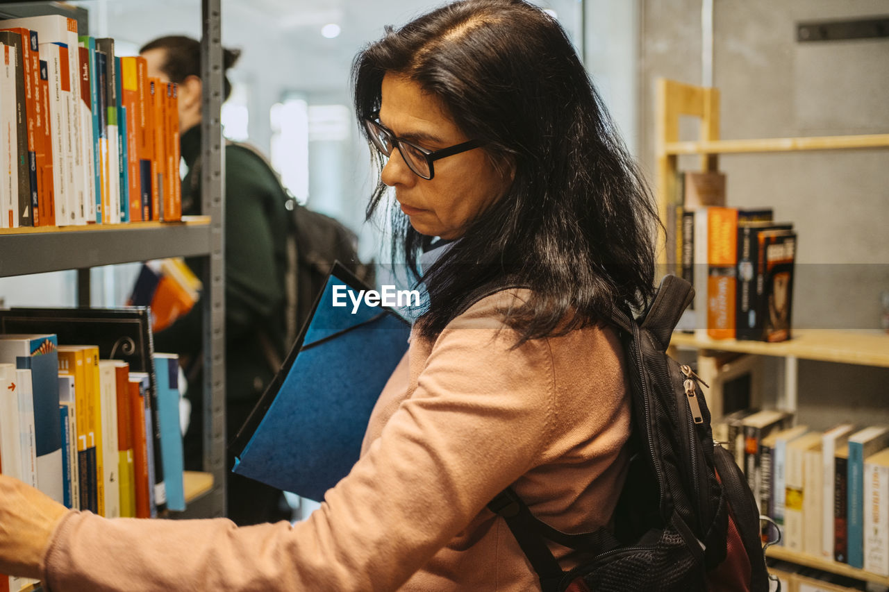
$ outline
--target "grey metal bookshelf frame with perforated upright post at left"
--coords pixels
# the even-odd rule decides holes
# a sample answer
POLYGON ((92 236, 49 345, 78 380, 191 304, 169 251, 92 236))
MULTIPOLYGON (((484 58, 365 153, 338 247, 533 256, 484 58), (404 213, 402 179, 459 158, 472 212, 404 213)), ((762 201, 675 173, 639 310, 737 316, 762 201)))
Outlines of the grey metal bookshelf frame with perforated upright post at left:
MULTIPOLYGON (((176 517, 200 518, 225 513, 225 301, 224 184, 220 109, 223 68, 220 0, 202 0, 201 73, 202 212, 180 222, 135 222, 63 228, 0 230, 0 277, 64 269, 78 272, 78 304, 89 304, 89 269, 175 256, 209 260, 202 279, 204 314, 204 472, 184 475, 188 509, 176 517)), ((83 8, 56 2, 4 4, 0 19, 63 14, 88 34, 83 8)))

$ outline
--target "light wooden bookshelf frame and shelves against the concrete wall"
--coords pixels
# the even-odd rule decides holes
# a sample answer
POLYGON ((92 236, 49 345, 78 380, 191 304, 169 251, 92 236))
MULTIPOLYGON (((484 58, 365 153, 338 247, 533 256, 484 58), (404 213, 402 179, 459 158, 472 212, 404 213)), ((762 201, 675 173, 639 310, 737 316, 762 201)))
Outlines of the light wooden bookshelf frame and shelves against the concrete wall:
MULTIPOLYGON (((770 154, 816 150, 874 150, 889 148, 889 134, 821 136, 807 138, 770 138, 759 140, 719 139, 719 91, 716 88, 682 84, 659 79, 657 83, 655 121, 655 198, 661 221, 666 223, 667 206, 675 190, 678 156, 701 157, 701 171, 718 170, 718 157, 723 154, 770 154), (700 119, 700 138, 679 141, 679 119, 692 116, 700 119)), ((666 264, 666 252, 659 256, 666 264)), ((783 358, 783 388, 777 400, 779 408, 797 410, 797 361, 814 360, 889 368, 889 335, 878 331, 839 331, 795 329, 793 339, 780 343, 746 340, 714 340, 700 334, 674 333, 670 346, 696 350, 699 360, 718 352, 734 352, 755 356, 783 358)), ((705 378, 706 380, 706 378, 705 378)), ((889 585, 889 577, 855 569, 820 556, 799 553, 788 548, 770 547, 766 556, 793 564, 836 573, 857 580, 889 585)))

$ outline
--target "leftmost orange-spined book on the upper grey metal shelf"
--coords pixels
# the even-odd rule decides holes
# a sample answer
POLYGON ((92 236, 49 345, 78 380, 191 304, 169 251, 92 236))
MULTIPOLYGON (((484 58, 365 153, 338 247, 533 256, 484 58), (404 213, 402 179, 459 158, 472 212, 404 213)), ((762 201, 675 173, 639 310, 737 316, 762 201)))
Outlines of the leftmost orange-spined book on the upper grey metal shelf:
POLYGON ((3 28, 0 22, 0 30, 17 34, 21 39, 21 64, 23 68, 23 82, 25 91, 25 129, 27 132, 28 159, 25 162, 30 190, 31 223, 33 226, 45 224, 40 219, 39 204, 41 187, 40 166, 37 155, 41 152, 40 143, 44 135, 41 125, 41 100, 40 100, 40 56, 38 52, 37 34, 27 28, 3 28))

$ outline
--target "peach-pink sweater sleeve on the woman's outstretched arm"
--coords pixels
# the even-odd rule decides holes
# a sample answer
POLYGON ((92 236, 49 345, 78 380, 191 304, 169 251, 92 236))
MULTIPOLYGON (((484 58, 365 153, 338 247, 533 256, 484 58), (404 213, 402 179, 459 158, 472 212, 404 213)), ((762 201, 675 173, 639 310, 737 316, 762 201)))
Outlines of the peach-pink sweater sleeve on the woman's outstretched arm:
POLYGON ((137 592, 400 587, 540 462, 552 437, 548 340, 511 349, 514 334, 485 318, 474 307, 445 329, 412 397, 308 520, 237 528, 71 512, 47 550, 45 581, 137 592))

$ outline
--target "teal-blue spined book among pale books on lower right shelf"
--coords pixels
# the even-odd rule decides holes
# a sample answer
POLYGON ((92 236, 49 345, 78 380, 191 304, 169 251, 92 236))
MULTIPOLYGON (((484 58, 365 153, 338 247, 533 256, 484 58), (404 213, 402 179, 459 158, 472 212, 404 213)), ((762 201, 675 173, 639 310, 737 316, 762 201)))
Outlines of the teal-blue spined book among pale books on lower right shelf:
POLYGON ((864 568, 864 460, 889 445, 889 428, 871 426, 849 436, 846 466, 846 528, 848 563, 864 568))

